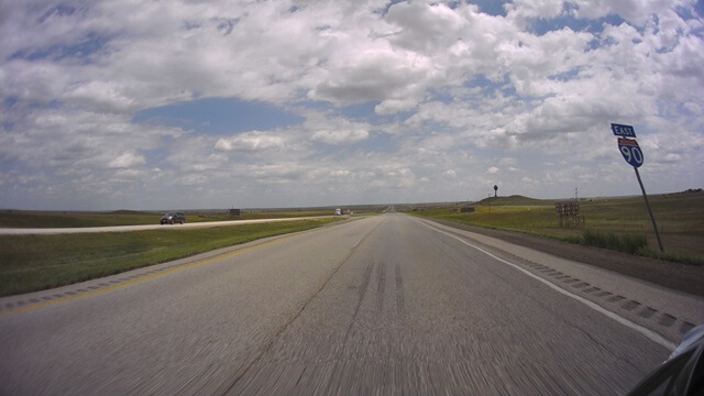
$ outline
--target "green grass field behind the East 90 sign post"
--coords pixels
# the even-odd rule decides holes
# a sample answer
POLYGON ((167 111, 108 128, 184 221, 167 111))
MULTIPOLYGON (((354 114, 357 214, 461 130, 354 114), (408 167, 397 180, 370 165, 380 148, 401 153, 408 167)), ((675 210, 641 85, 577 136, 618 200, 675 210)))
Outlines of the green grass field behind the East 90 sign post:
MULTIPOLYGON (((704 194, 668 194, 649 197, 668 255, 662 258, 704 262, 704 194)), ((639 254, 659 256, 652 224, 642 197, 581 199, 585 224, 560 228, 554 200, 526 197, 487 198, 474 204, 474 213, 453 212, 455 206, 428 208, 417 216, 461 223, 527 232, 569 241, 582 239, 585 231, 616 237, 642 235, 647 249, 639 254)))

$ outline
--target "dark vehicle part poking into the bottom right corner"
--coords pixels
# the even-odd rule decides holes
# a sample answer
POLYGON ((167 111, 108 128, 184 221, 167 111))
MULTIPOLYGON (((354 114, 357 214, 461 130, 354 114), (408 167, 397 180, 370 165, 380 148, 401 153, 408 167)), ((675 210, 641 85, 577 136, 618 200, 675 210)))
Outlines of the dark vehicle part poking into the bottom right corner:
POLYGON ((628 395, 704 395, 704 324, 684 334, 670 358, 628 395))

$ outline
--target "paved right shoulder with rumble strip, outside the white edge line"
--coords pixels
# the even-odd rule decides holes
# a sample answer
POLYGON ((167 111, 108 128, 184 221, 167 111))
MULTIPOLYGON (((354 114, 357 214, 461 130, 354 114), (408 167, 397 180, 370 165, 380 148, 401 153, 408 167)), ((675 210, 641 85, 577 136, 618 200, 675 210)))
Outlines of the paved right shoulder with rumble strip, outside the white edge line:
MULTIPOLYGON (((428 219, 420 221, 440 233, 493 256, 498 262, 530 273, 531 276, 540 278, 540 282, 552 284, 566 295, 576 296, 575 299, 582 298, 615 314, 620 319, 629 321, 629 327, 640 326, 649 329, 673 344, 694 326, 704 323, 704 297, 701 295, 663 287, 603 265, 584 263, 579 257, 565 258, 553 254, 554 251, 534 249, 535 246, 526 243, 530 240, 524 239, 524 244, 519 244, 497 238, 496 234, 486 235, 474 230, 452 227, 454 224, 446 226, 428 219)), ((558 248, 560 244, 553 246, 558 248)), ((588 246, 576 248, 591 250, 588 246)))

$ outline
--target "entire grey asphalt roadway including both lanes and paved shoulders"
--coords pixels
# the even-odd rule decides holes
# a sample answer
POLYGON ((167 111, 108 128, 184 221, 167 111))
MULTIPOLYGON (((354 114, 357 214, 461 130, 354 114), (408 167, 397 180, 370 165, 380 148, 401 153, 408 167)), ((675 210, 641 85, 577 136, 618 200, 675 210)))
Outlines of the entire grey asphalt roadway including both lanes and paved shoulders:
POLYGON ((0 395, 616 395, 703 321, 701 297, 386 215, 0 299, 0 395))

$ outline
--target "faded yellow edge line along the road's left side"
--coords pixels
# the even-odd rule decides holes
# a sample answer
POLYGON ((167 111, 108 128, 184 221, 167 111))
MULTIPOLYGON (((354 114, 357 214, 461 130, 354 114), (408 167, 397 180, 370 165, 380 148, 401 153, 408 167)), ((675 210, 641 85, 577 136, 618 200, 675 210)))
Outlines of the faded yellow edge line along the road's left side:
POLYGON ((282 242, 282 241, 286 241, 286 240, 289 240, 289 239, 298 237, 298 235, 299 234, 279 238, 279 239, 276 239, 274 241, 268 241, 268 242, 260 243, 260 244, 254 245, 254 246, 240 249, 240 250, 234 251, 232 253, 227 253, 227 254, 223 254, 223 255, 220 255, 220 256, 216 256, 216 257, 212 257, 212 258, 199 261, 199 262, 196 262, 196 263, 177 266, 175 268, 166 270, 166 271, 163 271, 163 272, 157 273, 157 274, 147 275, 147 276, 144 276, 144 277, 140 277, 138 279, 124 282, 124 283, 121 283, 119 285, 106 287, 106 288, 102 288, 102 289, 92 290, 92 292, 86 292, 86 293, 81 293, 81 294, 76 295, 76 296, 62 297, 59 299, 44 301, 44 302, 40 302, 40 304, 34 304, 34 305, 30 305, 30 306, 26 306, 26 307, 16 308, 16 309, 8 310, 8 311, 0 311, 0 317, 8 316, 8 315, 14 315, 14 314, 28 312, 28 311, 32 311, 32 310, 35 310, 35 309, 38 309, 38 308, 48 307, 48 306, 52 306, 52 305, 55 305, 55 304, 62 304, 62 302, 72 301, 72 300, 84 298, 84 297, 90 297, 90 296, 96 296, 96 295, 100 295, 100 294, 108 293, 108 292, 118 290, 118 289, 121 289, 123 287, 135 285, 135 284, 142 283, 142 282, 145 282, 145 280, 154 279, 154 278, 157 278, 157 277, 161 277, 161 276, 169 275, 169 274, 173 274, 173 273, 176 273, 176 272, 179 272, 179 271, 190 270, 190 268, 199 267, 201 265, 215 263, 215 262, 218 262, 218 261, 221 261, 221 260, 234 257, 234 256, 240 255, 242 253, 246 253, 246 252, 253 251, 253 250, 258 249, 258 248, 270 246, 270 245, 273 245, 275 243, 278 243, 278 242, 282 242))

